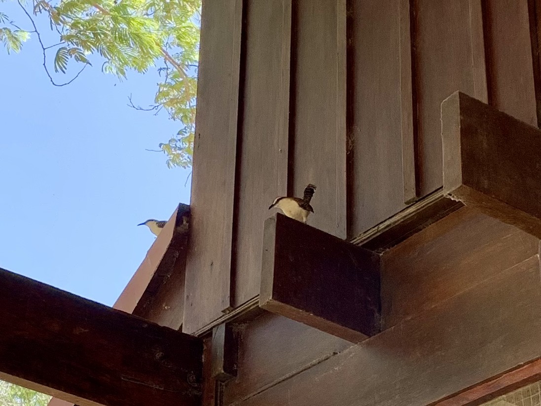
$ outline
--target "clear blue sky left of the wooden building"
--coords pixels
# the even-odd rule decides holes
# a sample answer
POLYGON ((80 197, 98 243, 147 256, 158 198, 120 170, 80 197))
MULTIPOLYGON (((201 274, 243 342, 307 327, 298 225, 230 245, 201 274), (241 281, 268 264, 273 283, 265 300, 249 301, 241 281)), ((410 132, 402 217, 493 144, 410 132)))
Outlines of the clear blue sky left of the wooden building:
MULTIPOLYGON (((16 5, 1 10, 30 29, 16 5)), ((127 106, 153 101, 155 71, 120 82, 97 63, 54 87, 41 63, 35 37, 19 54, 0 44, 0 267, 112 305, 154 241, 136 225, 189 203, 190 171, 145 150, 180 123, 127 106)))

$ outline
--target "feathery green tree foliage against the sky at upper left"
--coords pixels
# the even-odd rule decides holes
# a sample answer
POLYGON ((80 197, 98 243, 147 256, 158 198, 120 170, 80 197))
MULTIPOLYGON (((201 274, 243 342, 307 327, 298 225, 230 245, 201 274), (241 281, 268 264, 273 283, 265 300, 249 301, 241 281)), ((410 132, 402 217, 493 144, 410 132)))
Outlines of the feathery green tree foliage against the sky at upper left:
POLYGON ((120 78, 126 78, 129 70, 145 73, 157 67, 162 81, 154 103, 149 108, 133 103, 131 107, 164 109, 171 119, 180 121, 179 132, 159 148, 167 154, 169 167, 192 165, 201 0, 16 1, 33 29, 22 30, 0 12, 0 41, 8 53, 19 52, 23 42, 35 36, 43 49, 43 66, 55 86, 71 83, 93 61, 103 62, 104 73, 120 78), (49 19, 58 43, 45 46, 35 18, 49 19), (72 63, 82 67, 69 82, 58 84, 49 73, 47 57, 52 53, 56 73, 67 73, 72 63))

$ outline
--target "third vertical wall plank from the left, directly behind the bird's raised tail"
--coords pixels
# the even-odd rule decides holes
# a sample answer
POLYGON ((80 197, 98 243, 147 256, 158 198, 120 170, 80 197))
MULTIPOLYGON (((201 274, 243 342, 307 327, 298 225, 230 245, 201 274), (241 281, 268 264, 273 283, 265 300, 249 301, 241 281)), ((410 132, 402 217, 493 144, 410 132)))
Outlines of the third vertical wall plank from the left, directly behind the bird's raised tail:
POLYGON ((346 237, 346 3, 296 0, 291 192, 318 189, 309 224, 346 237))

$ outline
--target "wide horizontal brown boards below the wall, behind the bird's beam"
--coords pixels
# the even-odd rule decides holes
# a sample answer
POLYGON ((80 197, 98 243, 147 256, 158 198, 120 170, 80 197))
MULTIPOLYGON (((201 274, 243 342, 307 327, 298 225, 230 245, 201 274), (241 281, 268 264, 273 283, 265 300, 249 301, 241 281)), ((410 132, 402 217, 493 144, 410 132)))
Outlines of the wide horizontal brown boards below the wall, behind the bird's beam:
MULTIPOLYGON (((384 297, 396 294, 394 303, 411 306, 413 314, 394 306, 392 315, 385 306, 385 319, 394 317, 393 323, 384 322, 385 330, 326 357, 286 340, 286 326, 248 323, 243 337, 266 334, 267 343, 261 339, 253 348, 241 340, 238 375, 225 386, 224 404, 421 406, 535 361, 541 356, 537 242, 510 225, 460 209, 404 241, 411 244, 404 250, 398 245, 384 253, 384 297), (405 252, 411 255, 401 261, 405 252), (408 276, 412 285, 393 285, 394 278, 408 276), (283 341, 281 347, 272 346, 277 341, 283 341), (246 358, 247 352, 265 357, 246 358), (291 353, 307 360, 303 368, 284 362, 291 353), (257 381, 258 374, 280 363, 280 377, 269 384, 257 381), (248 371, 256 378, 247 378, 248 371)), ((313 339, 316 346, 323 337, 313 339)))

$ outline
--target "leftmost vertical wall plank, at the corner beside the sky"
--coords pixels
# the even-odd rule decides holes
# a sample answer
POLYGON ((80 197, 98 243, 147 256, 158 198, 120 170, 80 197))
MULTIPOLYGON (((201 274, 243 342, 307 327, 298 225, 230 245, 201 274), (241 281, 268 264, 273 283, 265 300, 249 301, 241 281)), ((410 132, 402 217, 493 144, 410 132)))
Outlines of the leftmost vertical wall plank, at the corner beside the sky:
POLYGON ((230 307, 242 0, 204 0, 183 331, 230 307))

